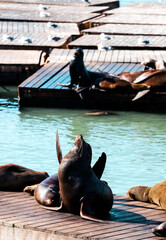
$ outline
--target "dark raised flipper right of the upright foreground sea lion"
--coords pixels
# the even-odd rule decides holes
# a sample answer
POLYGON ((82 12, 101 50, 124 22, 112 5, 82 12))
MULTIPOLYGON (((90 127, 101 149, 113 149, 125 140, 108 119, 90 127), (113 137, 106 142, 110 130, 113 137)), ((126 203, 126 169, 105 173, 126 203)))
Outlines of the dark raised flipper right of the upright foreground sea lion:
POLYGON ((103 152, 97 162, 93 166, 93 171, 98 179, 101 178, 106 164, 106 154, 103 152))

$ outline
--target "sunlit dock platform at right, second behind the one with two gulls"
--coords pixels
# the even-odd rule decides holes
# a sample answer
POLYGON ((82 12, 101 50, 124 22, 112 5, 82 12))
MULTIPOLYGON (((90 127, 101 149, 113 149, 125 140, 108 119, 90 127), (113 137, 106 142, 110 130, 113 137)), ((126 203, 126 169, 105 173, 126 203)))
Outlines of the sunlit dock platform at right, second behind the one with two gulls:
POLYGON ((92 26, 107 23, 114 24, 143 24, 143 25, 166 25, 165 15, 143 15, 143 14, 112 14, 91 21, 92 26))

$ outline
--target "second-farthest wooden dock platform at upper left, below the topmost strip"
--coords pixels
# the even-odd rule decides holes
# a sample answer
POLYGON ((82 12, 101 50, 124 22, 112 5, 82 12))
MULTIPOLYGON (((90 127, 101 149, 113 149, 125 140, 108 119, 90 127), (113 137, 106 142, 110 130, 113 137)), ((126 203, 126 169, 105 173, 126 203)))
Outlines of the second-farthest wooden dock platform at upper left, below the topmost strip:
POLYGON ((28 12, 29 9, 31 9, 31 13, 32 12, 40 12, 40 11, 45 11, 46 13, 54 13, 54 14, 58 14, 58 13, 102 13, 106 10, 108 10, 108 6, 63 6, 63 5, 41 5, 41 4, 26 4, 25 3, 3 3, 0 2, 0 9, 6 10, 6 11, 24 11, 24 12, 28 12))

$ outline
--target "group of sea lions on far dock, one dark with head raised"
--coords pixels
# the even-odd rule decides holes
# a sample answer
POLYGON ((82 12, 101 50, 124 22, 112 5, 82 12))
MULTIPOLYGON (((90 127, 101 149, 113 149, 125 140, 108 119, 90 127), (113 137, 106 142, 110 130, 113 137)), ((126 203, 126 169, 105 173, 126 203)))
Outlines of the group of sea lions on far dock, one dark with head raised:
POLYGON ((143 97, 150 91, 166 91, 166 64, 164 61, 150 59, 142 63, 142 65, 145 65, 143 71, 111 75, 107 72, 88 71, 83 57, 83 50, 77 48, 74 59, 71 60, 69 65, 71 81, 69 84, 61 85, 75 90, 84 100, 86 99, 86 92, 90 90, 135 93, 136 97, 133 100, 143 97))

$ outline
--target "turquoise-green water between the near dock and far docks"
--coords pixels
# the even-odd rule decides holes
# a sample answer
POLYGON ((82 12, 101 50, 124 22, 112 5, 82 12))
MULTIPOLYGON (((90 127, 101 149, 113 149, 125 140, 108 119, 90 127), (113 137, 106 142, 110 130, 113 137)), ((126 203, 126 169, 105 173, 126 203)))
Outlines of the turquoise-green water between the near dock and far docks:
POLYGON ((165 180, 166 115, 114 112, 87 116, 86 110, 25 108, 19 110, 16 88, 0 89, 0 164, 15 163, 51 175, 58 170, 55 134, 63 156, 82 134, 94 163, 102 152, 107 164, 102 179, 114 193, 125 195, 135 185, 165 180), (10 96, 10 98, 9 98, 10 96))

